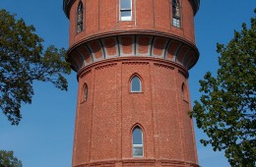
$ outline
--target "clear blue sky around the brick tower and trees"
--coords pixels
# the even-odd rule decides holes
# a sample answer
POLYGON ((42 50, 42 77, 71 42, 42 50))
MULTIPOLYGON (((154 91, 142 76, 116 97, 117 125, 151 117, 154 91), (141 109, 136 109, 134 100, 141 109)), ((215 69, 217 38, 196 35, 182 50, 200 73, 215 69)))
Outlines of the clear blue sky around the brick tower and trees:
MULTIPOLYGON (((216 43, 226 43, 233 30, 249 25, 254 16, 255 0, 201 0, 195 18, 196 41, 200 59, 190 70, 191 100, 200 98, 199 83, 207 71, 218 69, 216 43)), ((68 20, 62 0, 0 0, 0 9, 16 13, 44 39, 44 45, 68 48, 68 20)), ((22 108, 21 124, 11 126, 0 114, 0 149, 14 150, 24 167, 70 167, 75 126, 78 83, 76 74, 67 77, 69 90, 56 89, 50 83, 34 83, 31 105, 22 108)), ((203 146, 206 138, 195 127, 199 164, 202 167, 228 167, 223 152, 203 146)))

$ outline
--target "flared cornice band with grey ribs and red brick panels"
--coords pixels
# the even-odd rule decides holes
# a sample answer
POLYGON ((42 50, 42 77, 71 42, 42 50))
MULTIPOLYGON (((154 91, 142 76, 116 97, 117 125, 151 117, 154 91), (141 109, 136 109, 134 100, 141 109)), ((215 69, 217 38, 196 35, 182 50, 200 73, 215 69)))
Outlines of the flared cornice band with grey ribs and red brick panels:
POLYGON ((189 70, 196 64, 199 58, 199 52, 194 44, 185 40, 175 39, 173 36, 173 38, 171 38, 171 36, 161 36, 159 34, 125 33, 125 35, 116 34, 108 36, 107 38, 97 37, 98 38, 94 38, 94 40, 85 39, 83 40, 84 42, 77 43, 69 49, 67 61, 73 65, 74 71, 78 72, 85 66, 102 60, 122 57, 160 58, 177 62, 189 70), (153 38, 157 42, 152 42, 153 38), (140 39, 148 44, 140 43, 140 39), (113 44, 111 47, 106 47, 105 42, 109 40, 111 40, 113 44), (78 53, 79 56, 77 55, 78 53))

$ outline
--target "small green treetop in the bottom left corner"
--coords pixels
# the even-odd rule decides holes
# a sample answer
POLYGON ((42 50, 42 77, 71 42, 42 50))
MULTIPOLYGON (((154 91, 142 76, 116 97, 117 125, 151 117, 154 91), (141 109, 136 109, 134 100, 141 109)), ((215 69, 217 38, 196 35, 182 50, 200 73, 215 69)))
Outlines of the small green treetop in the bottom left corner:
POLYGON ((0 167, 23 167, 23 164, 13 151, 0 150, 0 167))

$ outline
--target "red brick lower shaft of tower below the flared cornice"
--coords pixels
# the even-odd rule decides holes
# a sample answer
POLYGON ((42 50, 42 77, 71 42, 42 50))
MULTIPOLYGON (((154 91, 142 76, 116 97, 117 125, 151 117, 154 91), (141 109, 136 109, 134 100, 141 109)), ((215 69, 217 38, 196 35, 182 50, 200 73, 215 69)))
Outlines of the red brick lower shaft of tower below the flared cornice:
POLYGON ((78 73, 73 167, 198 166, 188 115, 188 72, 156 57, 118 57, 78 73), (141 91, 131 91, 137 76, 141 91), (133 156, 133 130, 143 134, 143 156, 133 156))

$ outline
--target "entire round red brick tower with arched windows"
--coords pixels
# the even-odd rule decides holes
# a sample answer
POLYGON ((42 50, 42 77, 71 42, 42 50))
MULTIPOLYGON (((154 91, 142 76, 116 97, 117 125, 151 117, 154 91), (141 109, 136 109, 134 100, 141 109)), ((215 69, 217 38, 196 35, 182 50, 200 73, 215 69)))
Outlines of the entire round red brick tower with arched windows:
POLYGON ((188 70, 200 0, 63 0, 79 82, 73 167, 198 166, 188 70))

